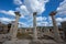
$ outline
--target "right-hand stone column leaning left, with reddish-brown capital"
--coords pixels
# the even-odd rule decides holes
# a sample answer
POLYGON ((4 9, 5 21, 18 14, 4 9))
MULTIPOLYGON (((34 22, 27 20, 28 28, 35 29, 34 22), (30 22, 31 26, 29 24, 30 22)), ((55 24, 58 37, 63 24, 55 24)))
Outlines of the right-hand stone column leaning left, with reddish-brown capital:
POLYGON ((52 16, 52 21, 53 21, 53 25, 54 25, 54 38, 55 38, 56 41, 61 42, 62 38, 61 38, 61 36, 59 36, 58 26, 57 26, 56 20, 55 20, 55 14, 56 14, 56 13, 57 13, 57 12, 53 11, 53 12, 51 12, 50 15, 52 16))

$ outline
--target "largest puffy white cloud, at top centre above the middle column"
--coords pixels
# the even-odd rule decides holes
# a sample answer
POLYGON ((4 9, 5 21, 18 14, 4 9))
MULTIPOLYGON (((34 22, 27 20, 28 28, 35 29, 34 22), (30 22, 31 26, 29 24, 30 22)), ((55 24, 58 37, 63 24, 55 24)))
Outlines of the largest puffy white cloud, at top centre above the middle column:
POLYGON ((31 13, 42 13, 43 11, 45 11, 46 2, 48 2, 48 0, 24 0, 24 4, 31 13))

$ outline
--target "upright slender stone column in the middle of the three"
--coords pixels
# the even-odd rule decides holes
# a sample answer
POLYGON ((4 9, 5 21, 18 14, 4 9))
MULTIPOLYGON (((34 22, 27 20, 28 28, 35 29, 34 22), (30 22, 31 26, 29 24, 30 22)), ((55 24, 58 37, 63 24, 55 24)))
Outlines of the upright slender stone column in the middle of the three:
POLYGON ((33 13, 33 40, 37 40, 36 12, 33 13))

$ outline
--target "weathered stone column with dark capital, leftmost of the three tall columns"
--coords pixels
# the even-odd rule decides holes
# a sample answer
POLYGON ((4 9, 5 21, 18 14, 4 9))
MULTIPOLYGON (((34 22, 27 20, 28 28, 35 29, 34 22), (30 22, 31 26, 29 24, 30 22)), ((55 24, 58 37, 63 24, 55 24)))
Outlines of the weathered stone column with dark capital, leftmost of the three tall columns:
POLYGON ((14 23, 14 28, 13 28, 13 34, 12 34, 12 40, 16 38, 16 33, 18 33, 18 22, 20 19, 20 13, 19 12, 14 12, 15 13, 15 23, 14 23))

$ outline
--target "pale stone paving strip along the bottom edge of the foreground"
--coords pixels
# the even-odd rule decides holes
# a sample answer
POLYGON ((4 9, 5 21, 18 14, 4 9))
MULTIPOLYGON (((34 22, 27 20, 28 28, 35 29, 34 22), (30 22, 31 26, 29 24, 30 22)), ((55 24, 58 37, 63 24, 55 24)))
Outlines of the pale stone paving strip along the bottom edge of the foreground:
POLYGON ((19 40, 19 41, 6 41, 3 44, 66 44, 66 43, 56 43, 53 40, 43 40, 40 42, 32 42, 30 40, 19 40))

